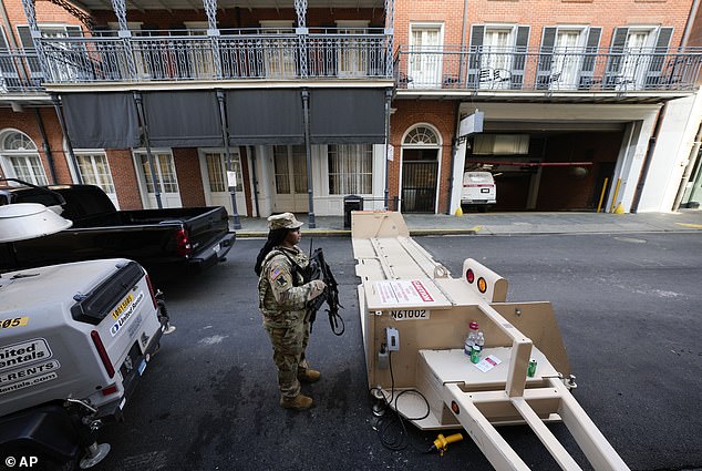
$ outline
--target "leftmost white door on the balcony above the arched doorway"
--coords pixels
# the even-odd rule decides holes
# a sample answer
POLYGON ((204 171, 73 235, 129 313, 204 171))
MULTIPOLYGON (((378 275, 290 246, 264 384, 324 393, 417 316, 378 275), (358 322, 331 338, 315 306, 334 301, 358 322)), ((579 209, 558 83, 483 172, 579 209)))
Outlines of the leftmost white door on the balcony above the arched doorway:
POLYGON ((441 27, 411 25, 407 88, 441 88, 441 27))

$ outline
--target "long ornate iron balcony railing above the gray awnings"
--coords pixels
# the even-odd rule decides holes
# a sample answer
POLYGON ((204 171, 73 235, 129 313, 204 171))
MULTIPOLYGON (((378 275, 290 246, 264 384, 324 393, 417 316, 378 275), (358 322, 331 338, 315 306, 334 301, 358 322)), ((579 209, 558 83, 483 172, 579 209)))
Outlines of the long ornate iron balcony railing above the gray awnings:
MULTIPOLYGON (((293 31, 293 30, 291 30, 293 31)), ((390 35, 224 31, 128 38, 41 38, 48 83, 194 80, 392 79, 390 35)))

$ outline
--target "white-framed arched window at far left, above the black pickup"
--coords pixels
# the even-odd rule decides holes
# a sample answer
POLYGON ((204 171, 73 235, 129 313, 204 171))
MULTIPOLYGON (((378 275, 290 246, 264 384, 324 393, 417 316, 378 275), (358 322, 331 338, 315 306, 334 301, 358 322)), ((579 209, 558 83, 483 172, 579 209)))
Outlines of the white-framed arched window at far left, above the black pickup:
POLYGON ((0 133, 0 164, 8 178, 19 178, 34 185, 48 185, 47 172, 37 144, 21 131, 0 133))

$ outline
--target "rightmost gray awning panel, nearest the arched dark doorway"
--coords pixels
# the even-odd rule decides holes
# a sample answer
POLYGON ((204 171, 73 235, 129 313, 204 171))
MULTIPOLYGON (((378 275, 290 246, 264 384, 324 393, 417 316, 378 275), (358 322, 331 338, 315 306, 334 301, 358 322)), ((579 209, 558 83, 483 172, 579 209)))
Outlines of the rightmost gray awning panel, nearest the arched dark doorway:
POLYGON ((311 90, 310 141, 312 144, 384 143, 385 90, 311 90))

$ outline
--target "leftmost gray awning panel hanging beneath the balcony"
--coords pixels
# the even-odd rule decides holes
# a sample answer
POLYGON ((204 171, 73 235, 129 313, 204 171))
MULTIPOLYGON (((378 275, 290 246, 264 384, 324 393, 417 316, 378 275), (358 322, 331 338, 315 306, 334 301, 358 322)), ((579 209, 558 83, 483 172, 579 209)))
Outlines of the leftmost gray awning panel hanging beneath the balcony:
POLYGON ((61 102, 73 147, 138 147, 138 120, 132 93, 65 93, 61 102))

